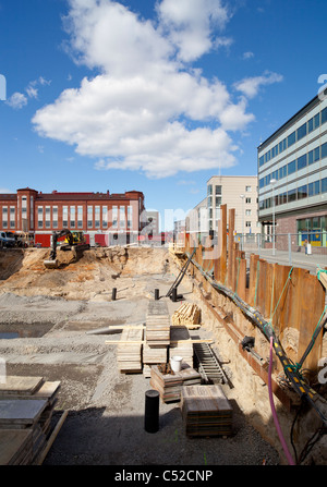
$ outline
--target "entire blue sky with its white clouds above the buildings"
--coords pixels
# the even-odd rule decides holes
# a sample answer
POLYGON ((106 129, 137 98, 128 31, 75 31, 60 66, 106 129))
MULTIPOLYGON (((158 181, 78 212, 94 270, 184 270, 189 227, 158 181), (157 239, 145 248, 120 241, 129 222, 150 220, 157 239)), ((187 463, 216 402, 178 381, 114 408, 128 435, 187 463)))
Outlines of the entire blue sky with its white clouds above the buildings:
MULTIPOLYGON (((161 229, 327 82, 325 0, 0 0, 0 192, 137 190, 161 229)), ((238 195, 237 195, 238 196, 238 195)))

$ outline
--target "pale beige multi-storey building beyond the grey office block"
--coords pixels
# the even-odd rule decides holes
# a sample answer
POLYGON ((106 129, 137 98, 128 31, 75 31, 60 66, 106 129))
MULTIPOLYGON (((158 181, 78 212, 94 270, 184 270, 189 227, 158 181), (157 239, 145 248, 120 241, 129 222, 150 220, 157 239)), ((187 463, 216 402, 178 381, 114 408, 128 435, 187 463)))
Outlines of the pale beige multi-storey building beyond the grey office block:
POLYGON ((237 234, 261 233, 257 218, 257 176, 214 175, 207 182, 208 229, 217 231, 220 205, 235 209, 237 234))

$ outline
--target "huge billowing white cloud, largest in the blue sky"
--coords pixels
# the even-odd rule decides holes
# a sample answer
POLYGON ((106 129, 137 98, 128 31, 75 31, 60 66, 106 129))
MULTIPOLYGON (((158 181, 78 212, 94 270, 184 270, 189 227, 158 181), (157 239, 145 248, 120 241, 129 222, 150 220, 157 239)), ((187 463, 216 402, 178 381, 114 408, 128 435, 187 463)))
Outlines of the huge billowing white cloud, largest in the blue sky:
POLYGON ((157 12, 155 24, 114 1, 70 0, 71 54, 100 74, 38 110, 35 129, 98 159, 98 170, 165 178, 230 167, 237 147, 228 131, 254 118, 244 98, 234 104, 218 78, 184 64, 230 44, 214 35, 229 13, 219 0, 162 0, 157 12))

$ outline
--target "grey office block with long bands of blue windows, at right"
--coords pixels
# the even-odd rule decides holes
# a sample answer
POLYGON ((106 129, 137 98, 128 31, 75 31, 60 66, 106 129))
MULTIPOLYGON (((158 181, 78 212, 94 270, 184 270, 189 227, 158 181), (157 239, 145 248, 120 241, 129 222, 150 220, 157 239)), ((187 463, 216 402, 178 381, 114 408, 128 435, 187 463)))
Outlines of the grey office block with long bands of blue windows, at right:
POLYGON ((326 246, 327 100, 316 96, 257 148, 258 219, 286 247, 326 246), (298 234, 298 235, 295 235, 298 234))

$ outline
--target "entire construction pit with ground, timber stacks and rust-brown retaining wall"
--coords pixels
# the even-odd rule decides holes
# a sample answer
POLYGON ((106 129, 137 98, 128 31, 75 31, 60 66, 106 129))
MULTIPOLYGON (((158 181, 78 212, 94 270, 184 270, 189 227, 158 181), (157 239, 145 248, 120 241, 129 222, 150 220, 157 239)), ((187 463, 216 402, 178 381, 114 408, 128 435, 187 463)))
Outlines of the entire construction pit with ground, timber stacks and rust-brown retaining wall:
POLYGON ((2 465, 325 465, 325 269, 217 242, 0 249, 2 465))

